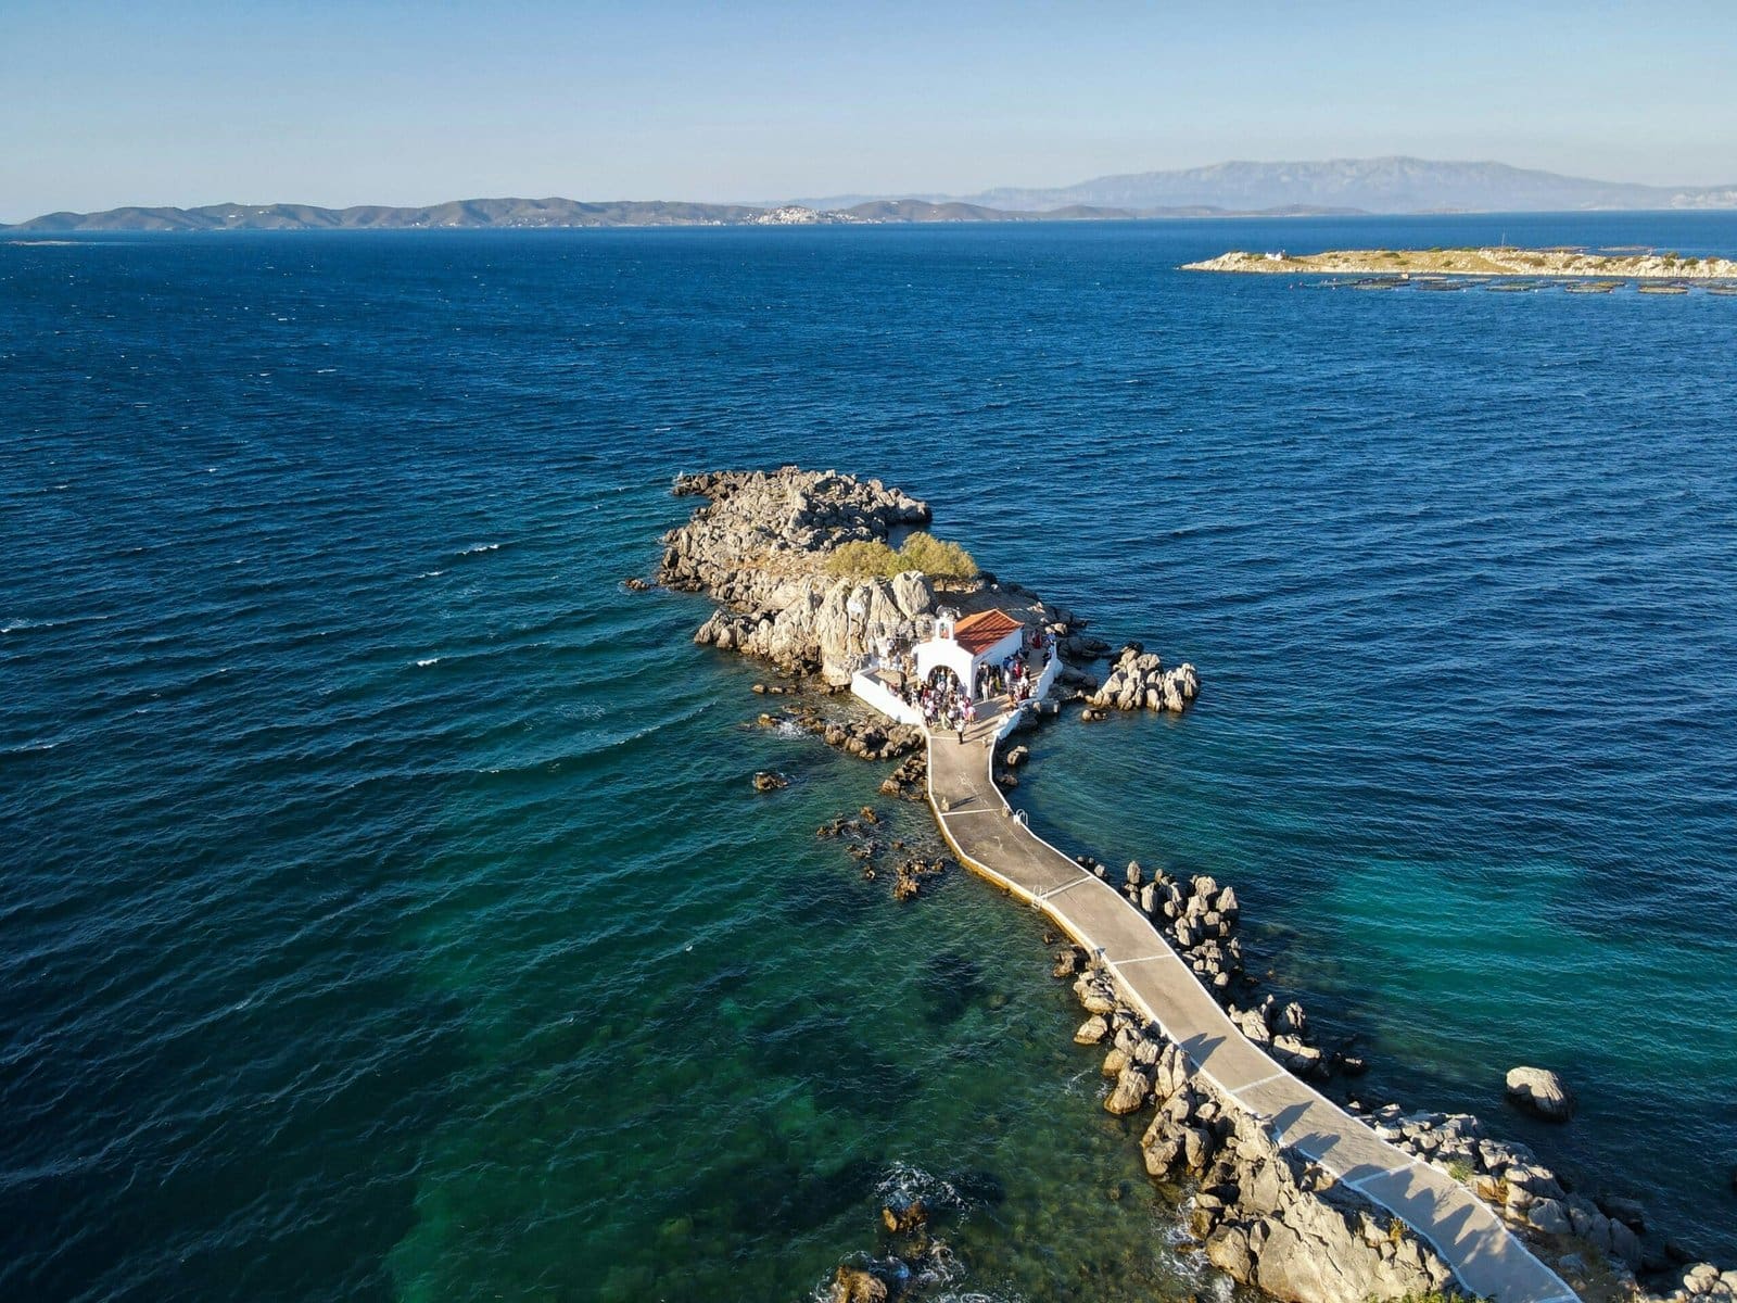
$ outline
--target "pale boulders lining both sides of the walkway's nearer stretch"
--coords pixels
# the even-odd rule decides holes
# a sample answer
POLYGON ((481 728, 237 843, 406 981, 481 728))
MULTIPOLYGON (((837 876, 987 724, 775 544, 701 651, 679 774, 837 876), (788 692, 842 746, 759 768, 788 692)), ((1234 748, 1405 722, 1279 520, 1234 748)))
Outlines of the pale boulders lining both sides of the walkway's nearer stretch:
MULTIPOLYGON (((1112 870, 1077 857, 1098 877, 1112 870)), ((1367 1063, 1313 1042, 1308 1015, 1259 992, 1244 966, 1240 902, 1214 877, 1181 879, 1131 862, 1122 893, 1164 935, 1230 1013, 1237 1029, 1285 1070, 1311 1081, 1357 1077, 1367 1063)), ((1153 1110, 1139 1145, 1160 1185, 1179 1185, 1190 1230, 1205 1256, 1242 1284, 1291 1303, 1365 1303, 1454 1293, 1452 1272, 1403 1221, 1337 1185, 1318 1164, 1277 1145, 1240 1107, 1223 1098, 1160 1029, 1133 1009, 1112 973, 1084 950, 1063 949, 1051 975, 1072 978, 1087 1018, 1073 1039, 1108 1044, 1103 1107, 1129 1115, 1153 1110)), ((1508 1098, 1546 1121, 1572 1117, 1572 1093, 1553 1072, 1515 1068, 1508 1098)), ((1635 1303, 1730 1303, 1737 1270, 1697 1261, 1629 1199, 1589 1195, 1522 1143, 1487 1133, 1470 1114, 1370 1107, 1346 1110, 1374 1133, 1466 1185, 1586 1300, 1635 1303)))

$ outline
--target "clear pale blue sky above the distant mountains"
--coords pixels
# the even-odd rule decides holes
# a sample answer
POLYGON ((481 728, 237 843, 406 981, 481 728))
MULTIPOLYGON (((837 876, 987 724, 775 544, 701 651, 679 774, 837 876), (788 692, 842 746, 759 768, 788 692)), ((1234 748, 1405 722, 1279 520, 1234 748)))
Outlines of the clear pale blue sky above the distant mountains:
POLYGON ((0 0, 0 221, 964 195, 1228 158, 1737 182, 1734 0, 0 0))

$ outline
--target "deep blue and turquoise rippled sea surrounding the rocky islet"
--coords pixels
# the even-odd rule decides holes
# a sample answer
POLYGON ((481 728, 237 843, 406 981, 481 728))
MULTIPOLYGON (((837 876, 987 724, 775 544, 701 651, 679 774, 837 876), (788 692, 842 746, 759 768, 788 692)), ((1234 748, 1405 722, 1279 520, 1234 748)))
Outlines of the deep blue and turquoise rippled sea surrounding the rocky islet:
POLYGON ((1042 917, 624 587, 785 462, 1199 667, 1014 799, 1341 1096, 1737 1261, 1737 299, 1178 269, 1503 238, 1737 215, 0 240, 0 1296, 801 1301, 921 1195, 921 1298, 1228 1298, 1042 917))

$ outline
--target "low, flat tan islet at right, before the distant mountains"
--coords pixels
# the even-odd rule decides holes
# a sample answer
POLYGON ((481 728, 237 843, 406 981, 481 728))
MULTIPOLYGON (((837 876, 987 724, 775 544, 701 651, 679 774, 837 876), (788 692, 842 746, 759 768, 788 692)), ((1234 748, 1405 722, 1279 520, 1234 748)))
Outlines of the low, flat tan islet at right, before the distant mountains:
POLYGON ((1325 254, 1232 252, 1183 271, 1348 273, 1358 276, 1593 276, 1737 280, 1737 261, 1586 248, 1337 248, 1325 254))

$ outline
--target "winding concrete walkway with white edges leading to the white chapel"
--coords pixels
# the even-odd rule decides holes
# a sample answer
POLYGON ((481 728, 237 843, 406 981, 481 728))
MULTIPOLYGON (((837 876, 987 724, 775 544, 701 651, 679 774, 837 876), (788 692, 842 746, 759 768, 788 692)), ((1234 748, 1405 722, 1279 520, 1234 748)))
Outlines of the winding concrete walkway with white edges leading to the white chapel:
POLYGON ((985 718, 964 742, 947 731, 929 737, 929 804, 961 862, 1042 909, 1103 959, 1131 1004, 1226 1098, 1277 1128, 1285 1147, 1403 1218, 1468 1291, 1497 1303, 1574 1303, 1574 1291, 1466 1187, 1280 1068, 1237 1030, 1133 902, 1013 817, 990 775, 1004 723, 1004 714, 985 718))

